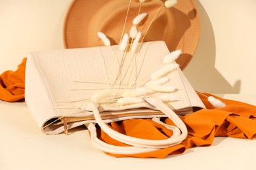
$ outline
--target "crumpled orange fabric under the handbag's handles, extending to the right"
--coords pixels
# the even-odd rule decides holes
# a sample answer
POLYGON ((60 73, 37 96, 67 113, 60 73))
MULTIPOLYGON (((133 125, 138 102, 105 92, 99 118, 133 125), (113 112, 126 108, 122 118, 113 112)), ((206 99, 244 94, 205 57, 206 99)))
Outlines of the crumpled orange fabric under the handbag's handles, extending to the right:
MULTIPOLYGON (((214 109, 211 103, 207 101, 205 95, 209 96, 210 94, 199 94, 207 109, 202 109, 181 117, 188 128, 188 137, 181 144, 144 154, 106 154, 116 157, 165 158, 169 154, 181 154, 186 148, 190 148, 191 146, 210 146, 213 143, 214 137, 217 136, 247 139, 256 137, 255 106, 214 96, 226 103, 226 107, 214 109)), ((162 121, 166 124, 173 125, 173 122, 169 118, 164 118, 162 121)), ((142 139, 166 139, 172 135, 169 129, 156 124, 156 122, 150 119, 124 120, 113 122, 108 124, 108 126, 125 135, 142 139)), ((98 138, 106 143, 117 146, 128 146, 112 139, 99 127, 97 131, 98 138)))

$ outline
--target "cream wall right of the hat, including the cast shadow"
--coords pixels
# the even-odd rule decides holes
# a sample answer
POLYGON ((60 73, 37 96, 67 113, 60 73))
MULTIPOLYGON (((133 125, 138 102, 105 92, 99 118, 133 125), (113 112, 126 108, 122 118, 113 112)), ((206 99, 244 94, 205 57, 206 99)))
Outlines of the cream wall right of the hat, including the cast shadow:
POLYGON ((256 1, 196 3, 202 32, 184 73, 201 92, 256 93, 256 1))

